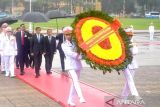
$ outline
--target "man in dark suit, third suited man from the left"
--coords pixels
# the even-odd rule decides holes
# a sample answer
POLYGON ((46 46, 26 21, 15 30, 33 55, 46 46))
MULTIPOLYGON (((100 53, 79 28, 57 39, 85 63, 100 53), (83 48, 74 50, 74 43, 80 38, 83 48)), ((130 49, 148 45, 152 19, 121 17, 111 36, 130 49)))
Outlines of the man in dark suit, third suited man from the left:
POLYGON ((51 74, 52 61, 56 52, 56 38, 53 36, 52 29, 47 30, 47 36, 44 38, 44 57, 47 74, 51 74))

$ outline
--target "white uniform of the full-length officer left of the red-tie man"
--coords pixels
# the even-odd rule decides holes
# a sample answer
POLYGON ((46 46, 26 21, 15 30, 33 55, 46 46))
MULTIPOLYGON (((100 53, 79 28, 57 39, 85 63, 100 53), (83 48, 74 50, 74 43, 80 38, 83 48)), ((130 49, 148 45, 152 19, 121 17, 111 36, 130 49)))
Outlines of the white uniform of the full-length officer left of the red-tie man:
POLYGON ((13 35, 5 36, 1 45, 2 55, 4 56, 6 75, 13 77, 14 74, 14 58, 17 55, 17 43, 13 35))

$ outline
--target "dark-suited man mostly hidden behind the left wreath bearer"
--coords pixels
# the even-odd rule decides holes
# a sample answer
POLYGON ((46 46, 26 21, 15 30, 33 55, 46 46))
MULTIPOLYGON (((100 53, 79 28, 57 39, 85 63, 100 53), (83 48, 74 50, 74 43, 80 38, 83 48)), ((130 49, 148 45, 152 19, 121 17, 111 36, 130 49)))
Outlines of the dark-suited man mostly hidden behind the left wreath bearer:
POLYGON ((62 72, 64 72, 65 71, 65 66, 64 66, 65 55, 64 55, 64 52, 63 52, 62 47, 61 47, 61 44, 64 42, 64 35, 63 35, 63 33, 58 34, 56 36, 56 40, 58 40, 57 49, 58 49, 59 55, 60 55, 61 69, 62 69, 62 72))

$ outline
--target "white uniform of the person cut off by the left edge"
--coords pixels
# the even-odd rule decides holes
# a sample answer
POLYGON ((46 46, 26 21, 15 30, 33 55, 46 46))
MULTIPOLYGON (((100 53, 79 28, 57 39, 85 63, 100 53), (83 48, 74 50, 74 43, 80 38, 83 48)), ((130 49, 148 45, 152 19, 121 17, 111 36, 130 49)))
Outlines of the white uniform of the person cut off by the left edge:
MULTIPOLYGON (((0 33, 0 46, 2 45, 3 39, 5 38, 5 33, 1 32, 0 33)), ((5 63, 4 63, 4 56, 2 53, 1 54, 1 71, 5 71, 5 63)))

